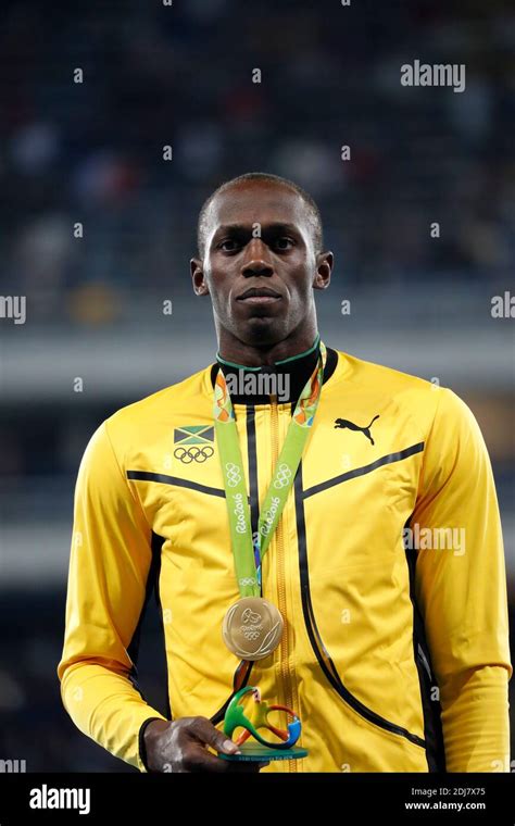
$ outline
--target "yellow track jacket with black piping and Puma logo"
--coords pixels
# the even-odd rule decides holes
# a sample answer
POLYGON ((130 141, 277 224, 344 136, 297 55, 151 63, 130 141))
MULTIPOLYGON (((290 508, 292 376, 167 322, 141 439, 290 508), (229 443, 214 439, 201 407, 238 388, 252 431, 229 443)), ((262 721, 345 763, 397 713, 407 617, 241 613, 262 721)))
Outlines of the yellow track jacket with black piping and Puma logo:
MULTIPOLYGON (((221 727, 238 665, 222 638, 239 592, 216 370, 108 418, 77 479, 62 699, 84 734, 141 772, 143 723, 164 717, 137 684, 151 591, 168 718, 221 727)), ((235 413, 255 529, 292 405, 235 403, 235 413)), ((510 771, 498 501, 481 433, 454 392, 328 348, 263 596, 285 633, 248 685, 298 712, 310 752, 265 772, 510 771)))

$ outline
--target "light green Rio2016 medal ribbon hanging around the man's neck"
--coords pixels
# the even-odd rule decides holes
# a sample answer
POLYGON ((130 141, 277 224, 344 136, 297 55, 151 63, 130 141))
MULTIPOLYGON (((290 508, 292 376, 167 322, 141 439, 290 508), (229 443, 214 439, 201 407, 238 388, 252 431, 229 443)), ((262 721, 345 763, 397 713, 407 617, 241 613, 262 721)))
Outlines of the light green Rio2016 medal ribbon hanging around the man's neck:
POLYGON ((236 577, 241 597, 261 596, 261 563, 293 485, 321 398, 327 359, 323 341, 319 343, 319 351, 318 363, 306 381, 293 411, 260 513, 256 538, 252 537, 235 411, 222 368, 218 370, 216 376, 213 415, 224 477, 236 577))

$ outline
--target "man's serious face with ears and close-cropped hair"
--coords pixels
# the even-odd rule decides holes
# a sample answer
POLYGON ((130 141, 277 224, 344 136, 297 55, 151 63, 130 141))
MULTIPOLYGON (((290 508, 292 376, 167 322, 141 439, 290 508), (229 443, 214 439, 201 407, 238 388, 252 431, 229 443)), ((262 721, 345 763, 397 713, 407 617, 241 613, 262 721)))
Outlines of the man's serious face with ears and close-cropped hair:
POLYGON ((303 199, 254 180, 214 199, 204 259, 192 259, 191 274, 197 295, 211 296, 218 334, 266 346, 306 322, 316 330, 313 290, 328 286, 331 266, 330 252, 315 254, 303 199))

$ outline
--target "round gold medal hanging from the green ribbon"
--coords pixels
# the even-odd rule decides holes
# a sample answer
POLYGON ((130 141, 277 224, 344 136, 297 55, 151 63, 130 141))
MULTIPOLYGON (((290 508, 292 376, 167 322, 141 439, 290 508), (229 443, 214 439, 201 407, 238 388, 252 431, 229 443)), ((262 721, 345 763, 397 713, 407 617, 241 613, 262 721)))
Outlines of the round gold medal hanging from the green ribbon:
POLYGON ((243 597, 229 608, 222 634, 240 660, 263 660, 279 644, 284 622, 279 610, 263 597, 243 597))

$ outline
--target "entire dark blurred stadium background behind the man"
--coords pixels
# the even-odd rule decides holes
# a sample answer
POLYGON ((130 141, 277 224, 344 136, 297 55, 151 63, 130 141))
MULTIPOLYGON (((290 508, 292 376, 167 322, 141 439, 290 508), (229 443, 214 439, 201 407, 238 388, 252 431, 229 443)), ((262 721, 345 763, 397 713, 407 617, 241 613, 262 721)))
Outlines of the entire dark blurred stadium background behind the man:
MULTIPOLYGON (((104 417, 213 361, 188 262, 203 199, 242 172, 291 177, 319 202, 336 253, 324 340, 473 409, 513 612, 513 320, 490 305, 513 288, 514 16, 497 0, 4 0, 0 295, 26 296, 27 321, 0 320, 0 758, 124 769, 59 696, 75 476, 104 417), (466 91, 401 87, 415 59, 465 63, 466 91)), ((152 612, 139 671, 164 710, 152 612)))

